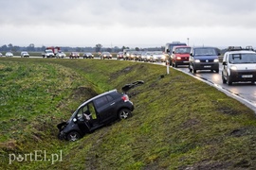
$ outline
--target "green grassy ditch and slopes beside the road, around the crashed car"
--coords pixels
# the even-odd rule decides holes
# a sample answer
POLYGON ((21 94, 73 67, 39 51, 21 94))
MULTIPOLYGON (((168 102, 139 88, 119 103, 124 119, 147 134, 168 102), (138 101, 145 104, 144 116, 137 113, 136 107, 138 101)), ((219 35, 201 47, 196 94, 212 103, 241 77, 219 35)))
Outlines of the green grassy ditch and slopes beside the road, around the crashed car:
POLYGON ((255 169, 253 111, 191 76, 165 73, 119 60, 0 59, 0 167, 255 169), (130 93, 132 118, 75 143, 57 140, 56 125, 82 101, 137 79, 145 84, 130 93))

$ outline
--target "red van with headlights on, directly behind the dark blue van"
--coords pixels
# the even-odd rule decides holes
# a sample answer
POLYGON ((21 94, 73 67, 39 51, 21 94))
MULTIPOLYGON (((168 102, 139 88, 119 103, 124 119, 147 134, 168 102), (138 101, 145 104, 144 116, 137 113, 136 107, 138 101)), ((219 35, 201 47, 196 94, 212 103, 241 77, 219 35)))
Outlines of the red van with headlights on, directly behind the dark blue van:
POLYGON ((171 62, 173 67, 178 65, 189 65, 191 47, 187 45, 174 46, 171 54, 171 62))

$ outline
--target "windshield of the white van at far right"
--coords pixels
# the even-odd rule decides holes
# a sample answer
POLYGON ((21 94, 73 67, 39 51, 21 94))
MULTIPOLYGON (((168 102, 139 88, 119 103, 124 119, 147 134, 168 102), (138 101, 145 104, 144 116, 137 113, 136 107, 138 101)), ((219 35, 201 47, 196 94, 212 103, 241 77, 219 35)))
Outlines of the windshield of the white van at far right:
POLYGON ((256 63, 256 54, 230 54, 229 63, 256 63))

